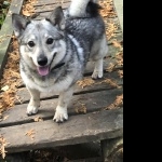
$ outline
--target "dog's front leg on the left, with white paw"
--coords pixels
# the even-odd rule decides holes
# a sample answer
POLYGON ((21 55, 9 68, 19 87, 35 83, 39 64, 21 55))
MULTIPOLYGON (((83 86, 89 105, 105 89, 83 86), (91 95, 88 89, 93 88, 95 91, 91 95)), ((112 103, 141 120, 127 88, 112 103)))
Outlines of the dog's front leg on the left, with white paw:
POLYGON ((35 114, 38 112, 38 108, 40 107, 40 92, 29 87, 27 87, 27 90, 31 96, 27 107, 27 114, 35 114))

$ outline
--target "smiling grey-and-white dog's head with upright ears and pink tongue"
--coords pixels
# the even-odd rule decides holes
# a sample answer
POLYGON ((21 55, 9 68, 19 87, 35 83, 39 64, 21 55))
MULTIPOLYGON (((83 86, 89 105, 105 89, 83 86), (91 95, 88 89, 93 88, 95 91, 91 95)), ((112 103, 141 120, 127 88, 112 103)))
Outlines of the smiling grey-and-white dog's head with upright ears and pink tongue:
POLYGON ((64 40, 65 18, 60 6, 48 18, 29 21, 12 14, 12 25, 18 38, 21 56, 40 76, 46 76, 59 64, 66 53, 64 40))

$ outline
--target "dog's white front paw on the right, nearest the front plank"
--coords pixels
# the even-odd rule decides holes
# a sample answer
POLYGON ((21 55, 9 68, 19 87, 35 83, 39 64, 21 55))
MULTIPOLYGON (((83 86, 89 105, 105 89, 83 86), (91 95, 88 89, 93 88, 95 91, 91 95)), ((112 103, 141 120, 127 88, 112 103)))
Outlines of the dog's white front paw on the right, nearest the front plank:
POLYGON ((67 108, 57 106, 53 120, 55 122, 64 122, 65 120, 68 120, 67 108))

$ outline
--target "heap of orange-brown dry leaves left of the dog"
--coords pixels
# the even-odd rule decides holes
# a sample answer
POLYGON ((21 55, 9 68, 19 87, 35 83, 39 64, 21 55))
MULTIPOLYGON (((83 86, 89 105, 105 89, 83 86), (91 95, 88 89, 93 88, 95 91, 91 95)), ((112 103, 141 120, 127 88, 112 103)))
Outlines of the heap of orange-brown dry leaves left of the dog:
POLYGON ((1 79, 1 86, 4 92, 0 94, 0 112, 10 109, 15 102, 15 92, 19 85, 19 52, 15 37, 12 43, 13 51, 9 53, 8 62, 1 79))

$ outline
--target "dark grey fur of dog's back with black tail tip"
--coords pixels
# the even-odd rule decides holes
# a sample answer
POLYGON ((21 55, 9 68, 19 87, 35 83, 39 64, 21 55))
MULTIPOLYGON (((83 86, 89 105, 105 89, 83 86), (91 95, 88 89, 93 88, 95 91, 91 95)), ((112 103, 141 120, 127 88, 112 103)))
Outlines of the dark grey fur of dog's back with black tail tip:
POLYGON ((83 16, 69 15, 66 18, 66 30, 80 41, 84 40, 89 42, 99 39, 105 32, 105 24, 99 15, 99 5, 90 1, 83 16), (80 39, 79 36, 83 37, 80 39))

